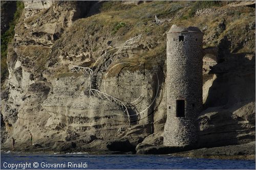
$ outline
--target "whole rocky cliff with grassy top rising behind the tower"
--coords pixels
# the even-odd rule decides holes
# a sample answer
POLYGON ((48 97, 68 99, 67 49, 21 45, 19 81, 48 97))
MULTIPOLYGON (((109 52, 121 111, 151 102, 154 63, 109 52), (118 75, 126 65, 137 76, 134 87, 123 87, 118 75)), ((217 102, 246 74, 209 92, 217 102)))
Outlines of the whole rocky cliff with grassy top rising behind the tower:
POLYGON ((139 143, 161 145, 165 33, 173 24, 199 27, 204 47, 215 47, 203 60, 205 108, 197 120, 202 147, 254 141, 255 8, 222 3, 189 16, 194 2, 24 5, 8 47, 9 77, 2 84, 2 148, 10 148, 14 137, 18 149, 30 150, 29 132, 32 148, 45 151, 94 152, 99 145, 120 151, 115 147, 123 144, 131 148, 124 152, 135 152, 139 143), (155 15, 164 20, 161 25, 155 15), (140 34, 104 67, 126 40, 140 34), (73 66, 97 72, 95 88, 125 103, 129 115, 117 103, 89 95, 90 75, 73 72, 73 66))

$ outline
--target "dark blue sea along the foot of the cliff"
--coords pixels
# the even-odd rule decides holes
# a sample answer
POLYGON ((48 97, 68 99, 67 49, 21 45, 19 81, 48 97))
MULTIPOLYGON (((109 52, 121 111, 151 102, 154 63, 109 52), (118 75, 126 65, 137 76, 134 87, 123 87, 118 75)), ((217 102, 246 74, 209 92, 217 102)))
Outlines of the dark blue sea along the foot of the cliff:
POLYGON ((255 169, 255 160, 219 160, 170 155, 1 153, 1 169, 255 169), (9 167, 8 167, 9 166, 9 167), (12 167, 13 166, 13 167, 12 167), (57 166, 54 168, 54 166, 57 166), (75 167, 74 167, 75 166, 75 167))

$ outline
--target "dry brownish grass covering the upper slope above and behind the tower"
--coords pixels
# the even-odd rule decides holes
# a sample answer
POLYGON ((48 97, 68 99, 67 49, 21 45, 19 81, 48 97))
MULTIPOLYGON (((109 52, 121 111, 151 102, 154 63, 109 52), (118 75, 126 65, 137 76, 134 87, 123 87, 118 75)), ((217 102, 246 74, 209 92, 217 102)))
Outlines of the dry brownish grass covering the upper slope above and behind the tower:
MULTIPOLYGON (((241 40, 241 37, 245 37, 245 35, 242 35, 245 31, 242 30, 241 26, 248 25, 249 22, 255 19, 255 14, 254 16, 250 16, 253 15, 255 9, 247 7, 230 9, 225 6, 217 6, 214 8, 223 9, 224 11, 227 11, 226 13, 189 18, 189 10, 194 3, 195 2, 158 1, 140 4, 138 6, 127 6, 123 5, 121 2, 105 2, 100 8, 101 12, 99 14, 75 21, 74 25, 68 32, 66 32, 65 36, 58 40, 59 42, 55 44, 56 47, 53 47, 53 49, 63 47, 64 50, 72 52, 75 51, 76 48, 82 48, 83 44, 80 44, 80 42, 84 42, 84 39, 88 39, 90 41, 90 44, 88 45, 89 50, 91 49, 91 51, 95 52, 94 59, 96 61, 97 57, 100 55, 100 51, 106 48, 106 45, 104 44, 106 44, 108 40, 112 40, 114 46, 118 46, 125 40, 138 34, 142 34, 140 43, 143 45, 152 45, 150 50, 146 52, 143 51, 140 54, 142 57, 131 56, 129 58, 121 58, 119 62, 132 62, 138 64, 143 62, 145 63, 146 69, 151 69, 156 64, 163 64, 165 61, 165 33, 173 24, 181 27, 195 26, 201 30, 207 26, 205 37, 214 37, 216 34, 216 27, 219 25, 220 21, 225 18, 226 30, 220 35, 215 36, 212 41, 206 42, 204 47, 207 47, 218 45, 219 40, 230 31, 230 36, 240 38, 241 40), (172 20, 157 26, 152 24, 155 15, 157 15, 159 19, 172 18, 172 20), (245 19, 246 17, 250 17, 250 19, 245 19), (112 35, 112 30, 115 29, 117 23, 120 22, 125 23, 125 26, 118 29, 116 33, 112 35), (93 38, 97 36, 105 36, 106 40, 101 40, 100 43, 95 42, 93 38)), ((238 41, 234 40, 234 43, 238 43, 238 41)), ((250 46, 248 51, 251 51, 251 49, 254 48, 250 46)), ((53 50, 55 56, 57 56, 56 53, 53 50)), ((116 75, 120 69, 118 67, 119 66, 116 67, 116 70, 111 70, 109 74, 113 76, 116 75)), ((136 69, 131 68, 131 70, 136 69)))

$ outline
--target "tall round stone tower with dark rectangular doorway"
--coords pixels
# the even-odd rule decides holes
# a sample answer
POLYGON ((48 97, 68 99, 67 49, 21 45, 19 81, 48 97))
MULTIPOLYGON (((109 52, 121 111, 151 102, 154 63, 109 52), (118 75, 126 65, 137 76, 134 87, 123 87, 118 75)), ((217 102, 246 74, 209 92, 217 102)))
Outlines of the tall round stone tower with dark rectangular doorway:
POLYGON ((195 118, 202 109, 203 33, 173 25, 167 33, 167 119, 163 144, 197 141, 195 118))

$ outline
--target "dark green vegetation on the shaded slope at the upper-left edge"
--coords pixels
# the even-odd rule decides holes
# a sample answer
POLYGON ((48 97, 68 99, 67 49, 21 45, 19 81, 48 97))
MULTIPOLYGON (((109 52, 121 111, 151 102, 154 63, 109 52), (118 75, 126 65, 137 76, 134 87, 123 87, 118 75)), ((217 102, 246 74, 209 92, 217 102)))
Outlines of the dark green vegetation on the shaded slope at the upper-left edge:
POLYGON ((24 4, 22 1, 16 2, 16 12, 14 13, 13 20, 9 23, 9 29, 1 34, 1 83, 4 82, 6 77, 8 76, 8 68, 7 68, 7 52, 8 52, 8 44, 12 41, 14 37, 14 28, 22 11, 24 9, 24 4))

